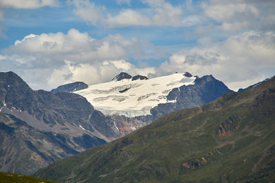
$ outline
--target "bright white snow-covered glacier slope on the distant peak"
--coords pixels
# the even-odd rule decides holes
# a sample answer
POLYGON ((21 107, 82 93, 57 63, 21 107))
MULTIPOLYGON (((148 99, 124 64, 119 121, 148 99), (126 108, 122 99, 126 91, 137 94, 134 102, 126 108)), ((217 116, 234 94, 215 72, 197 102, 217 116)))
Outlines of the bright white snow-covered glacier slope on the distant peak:
POLYGON ((86 97, 94 108, 104 114, 137 117, 151 114, 151 108, 159 103, 172 103, 166 96, 173 88, 194 84, 196 77, 175 73, 149 80, 124 79, 91 85, 75 93, 86 97))

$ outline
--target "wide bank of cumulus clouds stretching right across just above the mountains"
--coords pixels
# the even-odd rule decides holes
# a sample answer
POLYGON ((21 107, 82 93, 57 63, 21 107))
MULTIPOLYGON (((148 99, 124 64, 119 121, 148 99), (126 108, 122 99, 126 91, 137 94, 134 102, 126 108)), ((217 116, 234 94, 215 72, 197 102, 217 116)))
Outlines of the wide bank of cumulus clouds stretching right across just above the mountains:
POLYGON ((245 32, 221 42, 201 40, 201 45, 181 49, 165 61, 163 49, 146 40, 109 35, 101 40, 70 29, 25 36, 0 55, 2 70, 19 73, 32 88, 50 90, 61 84, 83 81, 109 82, 121 71, 150 77, 188 71, 212 74, 234 90, 264 80, 263 69, 275 70, 275 34, 245 32), (150 51, 148 51, 148 47, 150 51), (153 53, 152 53, 153 50, 153 53), (129 57, 164 58, 159 67, 131 64, 129 57))

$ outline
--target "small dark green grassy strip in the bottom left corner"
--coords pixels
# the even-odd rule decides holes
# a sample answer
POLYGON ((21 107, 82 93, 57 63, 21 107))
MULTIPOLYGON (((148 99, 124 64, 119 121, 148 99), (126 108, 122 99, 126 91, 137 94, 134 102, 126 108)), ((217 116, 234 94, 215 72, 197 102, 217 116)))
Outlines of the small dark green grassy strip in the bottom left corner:
POLYGON ((34 178, 27 175, 19 175, 14 173, 4 173, 0 171, 0 182, 1 183, 54 183, 51 180, 43 180, 40 178, 34 178))

